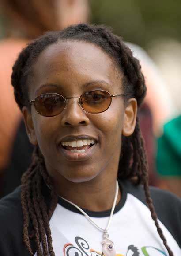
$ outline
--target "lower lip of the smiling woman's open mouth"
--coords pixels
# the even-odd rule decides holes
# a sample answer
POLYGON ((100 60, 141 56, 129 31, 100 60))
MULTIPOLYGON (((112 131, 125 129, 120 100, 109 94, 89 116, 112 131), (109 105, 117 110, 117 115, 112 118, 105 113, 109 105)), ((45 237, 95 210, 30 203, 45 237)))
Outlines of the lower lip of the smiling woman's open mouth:
POLYGON ((91 158, 92 155, 94 154, 97 144, 98 143, 95 143, 85 152, 81 152, 81 153, 74 153, 74 152, 71 152, 70 150, 65 150, 61 145, 59 145, 59 149, 60 149, 60 152, 63 154, 64 158, 66 158, 68 161, 86 161, 89 158, 91 158))

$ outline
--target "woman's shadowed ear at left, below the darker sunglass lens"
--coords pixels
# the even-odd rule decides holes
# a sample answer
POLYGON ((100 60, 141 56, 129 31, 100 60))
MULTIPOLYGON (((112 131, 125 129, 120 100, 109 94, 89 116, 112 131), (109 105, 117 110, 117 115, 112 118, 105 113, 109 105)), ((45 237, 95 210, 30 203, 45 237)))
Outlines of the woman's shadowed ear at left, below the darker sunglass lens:
POLYGON ((23 106, 22 114, 23 114, 23 119, 26 127, 26 133, 29 137, 29 140, 33 145, 37 145, 38 142, 35 135, 33 119, 30 111, 27 109, 26 106, 23 106))

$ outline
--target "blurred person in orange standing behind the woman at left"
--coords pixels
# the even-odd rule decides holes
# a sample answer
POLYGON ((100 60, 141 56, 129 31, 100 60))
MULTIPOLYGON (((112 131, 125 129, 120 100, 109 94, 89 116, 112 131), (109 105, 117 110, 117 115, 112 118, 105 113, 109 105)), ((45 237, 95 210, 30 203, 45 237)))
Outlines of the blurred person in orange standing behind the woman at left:
POLYGON ((6 37, 0 41, 0 117, 3 120, 0 122, 0 195, 2 196, 19 185, 16 183, 17 179, 12 178, 11 185, 14 185, 11 188, 7 184, 7 177, 10 173, 11 177, 16 175, 19 177, 20 174, 18 175, 17 172, 24 171, 25 156, 31 153, 28 151, 31 146, 23 146, 22 143, 26 143, 26 140, 23 141, 19 134, 24 133, 22 138, 26 136, 23 124, 20 124, 22 115, 11 87, 13 63, 31 39, 48 30, 59 30, 70 24, 87 22, 90 10, 87 0, 30 0, 28 4, 23 0, 16 2, 0 0, 0 6, 7 21, 6 37), (21 158, 15 159, 13 156, 14 151, 17 156, 16 150, 19 150, 15 145, 22 145, 25 149, 21 158))

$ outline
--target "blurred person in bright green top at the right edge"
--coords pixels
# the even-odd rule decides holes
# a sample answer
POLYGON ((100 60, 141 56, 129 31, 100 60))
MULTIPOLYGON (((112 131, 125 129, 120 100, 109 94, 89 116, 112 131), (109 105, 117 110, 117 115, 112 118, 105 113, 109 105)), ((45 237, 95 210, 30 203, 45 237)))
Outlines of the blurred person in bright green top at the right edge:
POLYGON ((162 187, 181 197, 181 115, 163 127, 157 140, 156 166, 162 187))

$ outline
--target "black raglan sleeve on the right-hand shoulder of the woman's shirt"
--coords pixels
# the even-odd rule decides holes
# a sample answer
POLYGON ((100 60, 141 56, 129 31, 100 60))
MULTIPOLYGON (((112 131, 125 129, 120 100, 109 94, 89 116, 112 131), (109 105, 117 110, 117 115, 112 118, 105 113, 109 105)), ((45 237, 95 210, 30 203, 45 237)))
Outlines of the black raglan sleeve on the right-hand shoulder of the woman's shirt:
MULTIPOLYGON (((122 189, 132 194, 147 206, 143 185, 132 185, 130 182, 121 182, 122 189)), ((159 221, 172 234, 178 244, 181 244, 181 199, 166 190, 149 187, 151 199, 159 221)))

